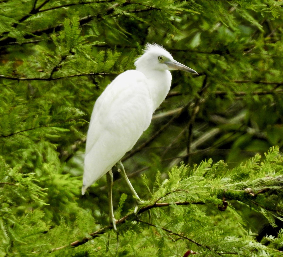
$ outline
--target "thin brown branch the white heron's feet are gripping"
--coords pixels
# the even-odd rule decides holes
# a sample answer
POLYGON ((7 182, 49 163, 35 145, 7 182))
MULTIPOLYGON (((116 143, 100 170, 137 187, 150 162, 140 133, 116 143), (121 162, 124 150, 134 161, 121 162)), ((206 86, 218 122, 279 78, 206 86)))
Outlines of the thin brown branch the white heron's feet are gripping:
MULTIPOLYGON (((144 207, 141 207, 141 209, 138 211, 138 215, 145 212, 145 211, 148 211, 152 208, 160 208, 160 207, 167 207, 167 206, 170 206, 170 205, 190 205, 190 204, 200 204, 200 205, 204 205, 205 203, 204 202, 188 202, 188 201, 185 201, 185 202, 174 202, 174 203, 154 203, 154 204, 150 204, 150 205, 147 205, 147 206, 144 206, 144 207)), ((124 223, 126 220, 134 220, 136 217, 136 214, 134 213, 130 213, 126 216, 124 216, 123 218, 119 219, 116 221, 116 225, 118 224, 122 224, 124 223)), ((83 245, 85 243, 87 243, 89 240, 95 238, 95 237, 98 237, 99 235, 102 235, 102 234, 105 234, 108 230, 111 230, 113 228, 112 224, 108 225, 108 226, 105 226, 91 234, 90 237, 84 237, 82 240, 76 240, 72 243, 70 243, 70 245, 64 245, 64 246, 61 246, 61 247, 57 247, 57 248, 54 248, 52 249, 52 251, 55 251, 55 250, 60 250, 60 249, 63 249, 65 247, 68 247, 68 246, 71 246, 71 247, 77 247, 79 245, 83 245)))

